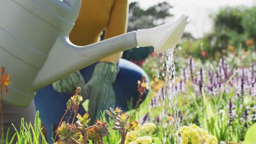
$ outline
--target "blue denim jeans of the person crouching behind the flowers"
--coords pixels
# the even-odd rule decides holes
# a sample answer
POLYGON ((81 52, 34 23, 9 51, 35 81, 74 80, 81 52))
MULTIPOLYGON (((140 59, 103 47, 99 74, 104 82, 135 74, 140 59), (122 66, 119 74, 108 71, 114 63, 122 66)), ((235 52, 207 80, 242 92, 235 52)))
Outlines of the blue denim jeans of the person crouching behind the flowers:
MULTIPOLYGON (((95 65, 96 63, 80 70, 85 83, 91 79, 95 65)), ((141 80, 142 76, 145 76, 146 81, 149 83, 148 76, 143 69, 138 67, 138 65, 125 59, 120 59, 117 66, 119 68, 119 73, 113 83, 115 106, 121 107, 122 110, 127 110, 127 102, 132 98, 134 108, 136 106, 136 101, 139 98, 137 81, 141 80)), ((51 143, 51 137, 54 137, 53 131, 59 124, 63 113, 65 113, 66 103, 71 96, 71 93, 56 92, 53 89, 53 85, 49 85, 37 91, 36 96, 34 97, 36 110, 39 110, 39 116, 46 128, 49 143, 51 143)), ((146 98, 146 96, 143 97, 143 100, 144 98, 146 98)), ((115 106, 113 106, 113 108, 115 106)), ((80 113, 80 115, 85 113, 82 106, 79 107, 78 113, 80 113)))

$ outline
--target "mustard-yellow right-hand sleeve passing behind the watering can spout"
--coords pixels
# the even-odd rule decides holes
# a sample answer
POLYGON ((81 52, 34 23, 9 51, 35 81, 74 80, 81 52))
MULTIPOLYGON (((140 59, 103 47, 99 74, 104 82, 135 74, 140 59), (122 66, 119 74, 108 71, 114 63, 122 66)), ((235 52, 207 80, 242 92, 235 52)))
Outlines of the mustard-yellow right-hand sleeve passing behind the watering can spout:
MULTIPOLYGON (((127 19, 128 19, 128 2, 127 0, 114 0, 113 8, 110 12, 108 25, 106 28, 105 38, 112 38, 120 34, 124 34, 127 31, 127 19)), ((115 53, 109 57, 101 59, 101 62, 117 63, 123 52, 115 53)))

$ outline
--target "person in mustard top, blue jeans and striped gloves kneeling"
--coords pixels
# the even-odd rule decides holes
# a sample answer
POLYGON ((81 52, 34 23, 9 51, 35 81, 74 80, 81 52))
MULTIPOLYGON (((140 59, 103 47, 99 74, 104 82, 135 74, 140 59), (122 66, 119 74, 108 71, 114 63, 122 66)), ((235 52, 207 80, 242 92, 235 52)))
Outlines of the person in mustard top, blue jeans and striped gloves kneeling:
MULTIPOLYGON (((127 0, 83 0, 69 39, 73 44, 83 46, 96 43, 104 28, 104 39, 126 33, 127 7, 127 0)), ((127 103, 132 100, 131 108, 135 108, 139 99, 137 81, 141 80, 142 76, 146 77, 148 83, 149 79, 136 64, 121 59, 122 54, 115 53, 103 58, 66 79, 37 91, 34 102, 40 112, 49 142, 66 110, 68 99, 79 86, 82 88, 80 94, 83 99, 89 99, 88 112, 92 123, 96 118, 100 118, 101 110, 109 107, 119 106, 122 110, 128 110, 127 103)), ((145 97, 146 95, 143 95, 141 100, 145 97)), ((85 113, 82 106, 79 107, 78 113, 85 113)))

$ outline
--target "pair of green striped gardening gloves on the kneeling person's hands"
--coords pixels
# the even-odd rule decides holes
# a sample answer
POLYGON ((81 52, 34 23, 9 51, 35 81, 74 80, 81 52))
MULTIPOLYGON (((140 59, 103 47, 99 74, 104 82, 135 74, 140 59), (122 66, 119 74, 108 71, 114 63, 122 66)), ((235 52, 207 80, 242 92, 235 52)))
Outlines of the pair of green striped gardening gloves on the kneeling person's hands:
POLYGON ((97 63, 94 73, 88 83, 85 84, 82 74, 77 71, 65 79, 53 83, 57 92, 74 93, 77 87, 82 89, 83 99, 89 99, 89 115, 92 122, 100 116, 100 111, 115 106, 115 92, 113 83, 117 77, 119 68, 108 62, 97 63))

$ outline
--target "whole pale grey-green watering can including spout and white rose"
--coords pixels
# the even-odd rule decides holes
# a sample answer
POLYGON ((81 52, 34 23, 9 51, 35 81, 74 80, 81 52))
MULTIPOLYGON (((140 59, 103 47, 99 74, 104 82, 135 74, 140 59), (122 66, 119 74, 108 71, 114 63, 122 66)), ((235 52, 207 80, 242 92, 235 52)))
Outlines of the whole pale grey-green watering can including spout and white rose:
POLYGON ((4 101, 27 106, 35 92, 99 59, 137 46, 159 53, 174 47, 187 16, 155 28, 140 29, 87 46, 72 44, 68 35, 81 0, 1 0, 0 65, 10 75, 4 101))

